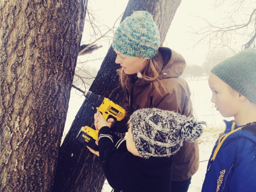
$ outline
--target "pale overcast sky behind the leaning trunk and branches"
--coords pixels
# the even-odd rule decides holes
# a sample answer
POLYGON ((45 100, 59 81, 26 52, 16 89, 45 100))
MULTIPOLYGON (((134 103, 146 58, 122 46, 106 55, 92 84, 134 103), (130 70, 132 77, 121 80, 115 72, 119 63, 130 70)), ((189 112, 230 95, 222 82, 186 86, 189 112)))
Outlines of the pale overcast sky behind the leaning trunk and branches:
MULTIPOLYGON (((92 9, 91 12, 95 14, 96 20, 112 27, 116 19, 124 12, 127 2, 128 0, 90 0, 88 7, 92 9)), ((166 36, 163 46, 168 46, 182 54, 189 65, 202 65, 208 53, 208 46, 202 44, 192 48, 197 41, 189 31, 192 30, 191 27, 198 28, 205 24, 202 20, 196 19, 195 16, 200 16, 212 22, 221 18, 221 13, 217 13, 216 10, 212 9, 213 2, 215 0, 182 0, 166 36)), ((87 15, 86 17, 88 19, 87 15)), ((119 23, 118 21, 116 27, 119 23)), ((88 43, 86 42, 86 39, 88 40, 88 32, 85 30, 84 34, 82 41, 88 43)), ((104 44, 104 42, 98 42, 98 44, 104 44)), ((100 54, 104 58, 109 46, 109 43, 104 44, 104 48, 94 52, 90 57, 96 58, 100 54)), ((80 56, 78 59, 81 58, 80 56)), ((100 66, 100 64, 100 61, 96 62, 97 66, 100 66)))

